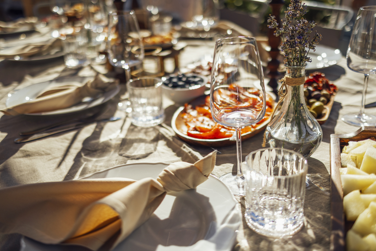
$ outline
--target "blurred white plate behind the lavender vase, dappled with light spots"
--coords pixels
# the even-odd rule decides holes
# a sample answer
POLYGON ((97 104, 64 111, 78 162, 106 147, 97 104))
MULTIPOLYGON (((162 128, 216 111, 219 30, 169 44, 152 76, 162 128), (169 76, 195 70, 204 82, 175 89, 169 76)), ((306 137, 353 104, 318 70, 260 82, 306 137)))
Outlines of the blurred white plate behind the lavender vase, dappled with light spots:
POLYGON ((307 62, 306 70, 326 68, 337 64, 342 59, 340 50, 322 45, 317 45, 316 51, 310 50, 308 56, 312 62, 307 62))

